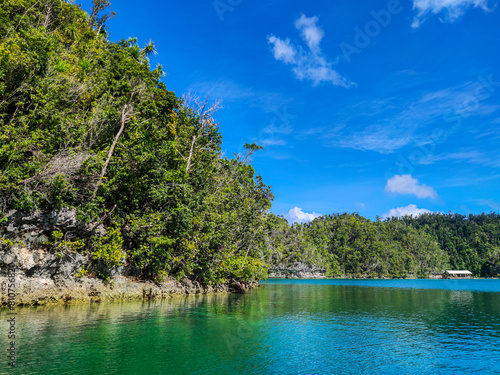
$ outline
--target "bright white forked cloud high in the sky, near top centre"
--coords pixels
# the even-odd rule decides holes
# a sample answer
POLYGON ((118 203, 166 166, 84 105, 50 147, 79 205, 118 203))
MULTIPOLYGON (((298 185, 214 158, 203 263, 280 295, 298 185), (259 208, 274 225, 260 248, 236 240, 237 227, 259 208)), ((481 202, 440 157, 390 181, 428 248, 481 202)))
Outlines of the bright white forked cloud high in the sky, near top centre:
POLYGON ((295 27, 300 31, 300 36, 307 44, 308 49, 293 45, 288 38, 283 40, 269 35, 267 41, 271 45, 274 58, 292 65, 292 71, 301 81, 312 81, 314 85, 321 82, 330 82, 335 86, 343 87, 354 85, 333 69, 333 63, 328 62, 323 56, 320 43, 325 33, 318 27, 317 22, 318 17, 306 17, 305 15, 302 15, 295 22, 295 27))

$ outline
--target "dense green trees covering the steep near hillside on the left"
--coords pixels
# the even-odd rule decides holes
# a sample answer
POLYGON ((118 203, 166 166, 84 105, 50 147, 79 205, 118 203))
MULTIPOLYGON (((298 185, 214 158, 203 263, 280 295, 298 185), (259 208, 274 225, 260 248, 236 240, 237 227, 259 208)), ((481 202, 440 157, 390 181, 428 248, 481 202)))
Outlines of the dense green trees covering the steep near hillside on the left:
POLYGON ((272 194, 249 165, 223 158, 213 106, 188 103, 150 69, 152 43, 112 43, 60 0, 0 9, 1 210, 76 207, 105 227, 85 249, 108 268, 204 282, 265 275, 259 243, 272 194))

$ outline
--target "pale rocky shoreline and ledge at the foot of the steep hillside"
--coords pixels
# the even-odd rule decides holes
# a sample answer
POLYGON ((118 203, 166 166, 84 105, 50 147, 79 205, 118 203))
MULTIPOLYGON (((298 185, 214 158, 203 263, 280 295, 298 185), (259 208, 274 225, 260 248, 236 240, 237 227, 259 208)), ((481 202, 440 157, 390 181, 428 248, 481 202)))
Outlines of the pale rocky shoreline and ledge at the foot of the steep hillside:
POLYGON ((139 279, 125 264, 111 269, 109 281, 103 281, 95 277, 99 268, 86 252, 57 253, 46 245, 53 230, 62 231, 68 238, 85 238, 99 235, 102 226, 79 222, 74 209, 32 215, 11 211, 6 218, 7 224, 0 225, 0 306, 9 304, 9 289, 16 305, 36 306, 245 293, 259 286, 257 281, 236 280, 222 285, 202 285, 187 278, 152 282, 139 279), (9 284, 14 287, 9 288, 9 284))

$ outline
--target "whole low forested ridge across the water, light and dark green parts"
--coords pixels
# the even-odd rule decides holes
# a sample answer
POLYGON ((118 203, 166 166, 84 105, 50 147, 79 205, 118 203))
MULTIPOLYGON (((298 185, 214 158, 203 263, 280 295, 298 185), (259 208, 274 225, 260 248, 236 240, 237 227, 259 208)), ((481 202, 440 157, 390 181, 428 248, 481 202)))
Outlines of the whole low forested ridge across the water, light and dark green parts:
POLYGON ((500 274, 500 215, 425 214, 370 221, 328 215, 295 228, 332 276, 425 277, 445 269, 500 274))

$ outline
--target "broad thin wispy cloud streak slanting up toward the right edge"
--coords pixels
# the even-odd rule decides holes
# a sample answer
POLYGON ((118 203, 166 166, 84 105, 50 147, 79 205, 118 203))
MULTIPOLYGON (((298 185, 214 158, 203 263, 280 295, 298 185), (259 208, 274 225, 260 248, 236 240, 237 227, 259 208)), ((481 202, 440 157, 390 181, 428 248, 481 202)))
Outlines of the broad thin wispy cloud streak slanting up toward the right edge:
POLYGON ((381 154, 394 153, 411 144, 425 144, 433 141, 436 123, 443 127, 443 132, 452 132, 450 121, 456 118, 488 116, 499 110, 500 105, 478 98, 481 88, 480 82, 469 81, 446 89, 412 93, 410 97, 359 102, 344 114, 339 113, 342 127, 332 126, 335 131, 326 130, 319 136, 327 146, 381 154), (359 123, 370 125, 359 129, 359 123))

